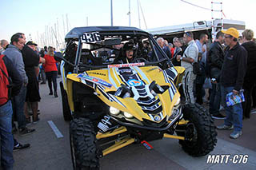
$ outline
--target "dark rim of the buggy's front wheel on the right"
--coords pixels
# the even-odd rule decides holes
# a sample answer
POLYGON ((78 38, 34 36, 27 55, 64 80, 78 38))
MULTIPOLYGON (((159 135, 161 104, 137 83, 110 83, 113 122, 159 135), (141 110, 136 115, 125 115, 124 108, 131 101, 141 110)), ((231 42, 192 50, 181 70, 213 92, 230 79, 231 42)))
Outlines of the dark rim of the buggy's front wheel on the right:
POLYGON ((185 132, 186 145, 190 148, 194 147, 198 140, 198 131, 194 126, 194 123, 188 123, 186 125, 185 132))

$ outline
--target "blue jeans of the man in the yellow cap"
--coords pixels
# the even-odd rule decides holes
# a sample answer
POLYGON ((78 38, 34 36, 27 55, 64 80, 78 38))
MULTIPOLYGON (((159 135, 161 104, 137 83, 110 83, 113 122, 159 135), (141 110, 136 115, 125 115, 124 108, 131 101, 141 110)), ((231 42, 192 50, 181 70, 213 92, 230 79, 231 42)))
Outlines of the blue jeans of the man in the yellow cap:
POLYGON ((226 94, 232 92, 234 87, 221 87, 222 102, 224 103, 226 118, 224 125, 234 125, 234 131, 239 132, 242 130, 242 104, 226 106, 226 94))

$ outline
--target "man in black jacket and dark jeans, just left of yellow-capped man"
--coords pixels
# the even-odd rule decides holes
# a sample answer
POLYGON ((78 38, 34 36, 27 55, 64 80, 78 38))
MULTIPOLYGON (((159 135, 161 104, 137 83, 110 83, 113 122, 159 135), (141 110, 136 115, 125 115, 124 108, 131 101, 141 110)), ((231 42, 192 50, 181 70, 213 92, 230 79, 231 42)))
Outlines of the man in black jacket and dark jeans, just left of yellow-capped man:
POLYGON ((224 42, 224 34, 219 31, 216 34, 214 43, 210 45, 207 53, 207 67, 209 77, 211 79, 212 91, 210 93, 209 113, 214 119, 224 119, 225 117, 219 113, 221 104, 221 85, 219 83, 219 76, 224 61, 224 50, 222 43, 224 42))

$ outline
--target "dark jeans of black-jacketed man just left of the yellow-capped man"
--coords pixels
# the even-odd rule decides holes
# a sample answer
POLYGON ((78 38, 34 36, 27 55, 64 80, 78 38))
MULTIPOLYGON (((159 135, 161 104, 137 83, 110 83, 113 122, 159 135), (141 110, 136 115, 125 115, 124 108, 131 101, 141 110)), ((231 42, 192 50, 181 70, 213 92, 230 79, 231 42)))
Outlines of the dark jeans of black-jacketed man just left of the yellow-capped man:
POLYGON ((212 89, 210 93, 209 113, 212 115, 219 114, 219 106, 221 105, 221 85, 218 83, 212 83, 212 89))

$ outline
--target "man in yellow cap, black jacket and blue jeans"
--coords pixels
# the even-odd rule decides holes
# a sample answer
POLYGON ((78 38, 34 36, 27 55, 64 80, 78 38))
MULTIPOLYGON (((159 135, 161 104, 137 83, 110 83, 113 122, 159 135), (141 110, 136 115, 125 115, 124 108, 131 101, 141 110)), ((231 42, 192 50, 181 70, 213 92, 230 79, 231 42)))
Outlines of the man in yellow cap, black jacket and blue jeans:
POLYGON ((225 105, 226 119, 224 124, 217 128, 222 130, 234 128, 230 138, 236 139, 242 135, 242 104, 227 106, 226 95, 228 93, 238 95, 242 89, 246 74, 247 51, 238 43, 238 30, 231 27, 228 30, 222 30, 222 33, 224 33, 224 41, 227 45, 220 76, 222 103, 225 105))

